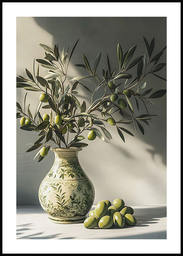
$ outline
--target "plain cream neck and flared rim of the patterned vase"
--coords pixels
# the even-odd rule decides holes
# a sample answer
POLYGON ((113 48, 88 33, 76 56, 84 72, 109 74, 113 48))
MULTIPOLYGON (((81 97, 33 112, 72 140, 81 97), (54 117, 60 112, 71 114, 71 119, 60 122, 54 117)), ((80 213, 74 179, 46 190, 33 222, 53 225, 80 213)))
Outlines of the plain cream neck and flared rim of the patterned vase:
POLYGON ((51 148, 51 150, 55 153, 55 158, 70 158, 78 157, 78 152, 82 148, 51 148))

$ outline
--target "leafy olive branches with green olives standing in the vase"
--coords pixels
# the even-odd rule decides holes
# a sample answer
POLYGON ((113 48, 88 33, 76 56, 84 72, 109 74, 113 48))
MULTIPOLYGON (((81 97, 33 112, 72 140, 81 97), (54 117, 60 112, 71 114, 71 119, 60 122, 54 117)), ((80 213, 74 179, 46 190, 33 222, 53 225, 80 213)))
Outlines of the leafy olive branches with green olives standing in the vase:
MULTIPOLYGON (((79 41, 79 40, 78 40, 79 41)), ((166 90, 161 89, 151 92, 153 88, 144 90, 146 87, 147 75, 154 75, 164 81, 166 79, 157 75, 166 64, 158 63, 164 47, 156 55, 153 54, 155 39, 150 44, 144 37, 146 53, 133 59, 136 45, 123 53, 121 45, 117 45, 118 68, 112 68, 107 55, 107 69, 98 72, 98 66, 101 59, 101 52, 94 60, 93 68, 87 57, 82 53, 83 64, 75 64, 82 67, 87 73, 83 77, 75 77, 70 80, 72 85, 65 85, 67 80, 68 65, 76 48, 78 41, 70 51, 65 46, 59 51, 58 44, 54 49, 40 44, 45 50, 44 59, 36 59, 37 68, 35 68, 35 59, 33 65, 33 74, 26 70, 27 78, 19 76, 16 78, 16 87, 28 91, 40 91, 38 106, 34 115, 30 110, 30 104, 25 109, 26 95, 24 97, 24 108, 16 103, 16 118, 20 119, 20 129, 38 133, 38 138, 33 145, 27 149, 30 152, 42 147, 36 154, 38 162, 44 159, 48 154, 50 146, 57 144, 59 148, 85 147, 87 143, 84 140, 83 131, 88 130, 88 140, 94 140, 97 137, 107 141, 112 139, 107 130, 108 125, 112 125, 117 130, 121 139, 125 142, 124 132, 134 136, 130 131, 123 127, 124 124, 133 123, 135 130, 137 128, 144 135, 143 123, 149 124, 153 115, 149 114, 148 106, 153 106, 150 99, 160 98, 165 95, 166 90), (132 60, 133 59, 133 60, 132 60), (45 68, 45 77, 39 76, 40 65, 45 68), (130 69, 137 67, 135 77, 130 74, 130 69), (36 69, 36 73, 35 73, 36 69), (84 84, 84 79, 92 78, 94 88, 89 88, 84 84), (82 82, 81 82, 82 80, 82 82), (90 106, 86 102, 79 102, 77 99, 77 87, 82 86, 91 95, 90 106), (94 100, 96 92, 103 90, 103 95, 94 100), (133 101, 139 111, 139 102, 144 105, 145 114, 136 115, 133 101), (40 108, 50 109, 50 115, 41 116, 40 108), (121 120, 115 120, 114 113, 121 115, 121 120)))

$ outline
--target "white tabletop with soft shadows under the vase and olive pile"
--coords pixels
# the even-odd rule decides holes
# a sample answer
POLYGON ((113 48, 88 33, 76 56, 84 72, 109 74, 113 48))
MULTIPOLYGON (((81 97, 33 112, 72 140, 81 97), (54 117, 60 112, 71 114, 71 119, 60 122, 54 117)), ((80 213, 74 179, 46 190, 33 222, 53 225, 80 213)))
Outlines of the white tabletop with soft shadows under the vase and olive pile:
MULTIPOLYGON (((52 223, 41 206, 17 207, 17 239, 166 239, 166 206, 131 206, 135 226, 84 228, 83 223, 52 223)), ((94 206, 92 207, 94 209, 94 206)), ((88 215, 87 215, 88 217, 88 215)))

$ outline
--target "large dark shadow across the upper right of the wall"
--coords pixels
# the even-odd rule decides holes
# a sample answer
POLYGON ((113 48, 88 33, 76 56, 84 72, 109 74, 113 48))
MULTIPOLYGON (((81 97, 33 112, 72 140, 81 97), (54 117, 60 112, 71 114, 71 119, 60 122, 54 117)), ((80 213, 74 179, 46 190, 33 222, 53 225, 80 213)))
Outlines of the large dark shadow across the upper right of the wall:
MULTIPOLYGON (((155 37, 154 55, 166 45, 166 18, 164 17, 35 17, 34 20, 53 36, 53 46, 58 43, 60 50, 64 45, 66 48, 68 46, 72 48, 74 43, 80 39, 71 59, 70 66, 72 68, 69 69, 69 77, 75 76, 72 70, 75 71, 74 73, 77 72, 78 76, 87 75, 82 68, 74 66, 76 63, 83 63, 81 52, 87 56, 92 66, 95 57, 102 51, 99 70, 102 67, 107 68, 106 54, 108 54, 113 69, 118 67, 116 54, 118 42, 121 43, 124 52, 133 45, 137 45, 134 58, 145 52, 143 36, 148 41, 155 37)), ((46 44, 46 39, 40 43, 46 44)), ((166 62, 166 53, 161 57, 161 62, 166 62)), ((135 74, 136 67, 130 72, 135 74)), ((166 77, 166 68, 158 72, 158 75, 166 77)), ((153 87, 153 91, 156 91, 166 88, 166 82, 153 75, 149 75, 146 81, 147 89, 153 87)), ((85 85, 89 83, 92 86, 92 83, 88 81, 85 82, 85 85)), ((83 93, 84 100, 87 101, 88 92, 83 91, 83 93)), ((152 158, 158 154, 161 156, 163 164, 166 165, 166 96, 153 99, 152 103, 156 105, 156 108, 149 107, 149 112, 152 115, 157 114, 157 117, 152 120, 147 129, 145 127, 147 125, 144 125, 144 136, 140 134, 140 131, 135 136, 152 146, 152 149, 147 149, 152 158)), ((142 106, 140 111, 136 112, 137 115, 146 113, 142 106)), ((121 119, 120 116, 118 118, 121 119)), ((130 152, 125 155, 130 157, 130 152)))

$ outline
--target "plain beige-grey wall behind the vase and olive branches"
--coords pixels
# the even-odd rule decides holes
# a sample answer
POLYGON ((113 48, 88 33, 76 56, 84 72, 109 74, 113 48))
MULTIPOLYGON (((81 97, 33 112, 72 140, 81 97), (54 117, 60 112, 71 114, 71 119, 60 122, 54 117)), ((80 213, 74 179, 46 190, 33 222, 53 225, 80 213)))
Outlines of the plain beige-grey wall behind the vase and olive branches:
MULTIPOLYGON (((53 47, 58 43, 72 47, 80 38, 69 68, 69 78, 86 75, 74 66, 82 63, 81 52, 93 63, 96 55, 102 51, 101 68, 106 68, 106 54, 111 64, 117 67, 116 48, 121 43, 124 51, 137 45, 136 56, 145 52, 143 36, 149 41, 155 37, 155 53, 166 45, 166 18, 61 18, 61 17, 18 17, 17 18, 17 75, 26 76, 25 68, 32 72, 33 60, 44 57, 39 43, 53 47)), ((162 62, 166 61, 166 54, 162 62)), ((42 73, 43 74, 43 73, 42 73)), ((166 68, 159 72, 166 76, 166 68)), ((149 75, 147 88, 165 89, 166 82, 149 75)), ((92 86, 91 82, 88 82, 92 86)), ((85 83, 86 84, 86 83, 85 83)), ((80 89, 80 100, 89 104, 89 94, 80 89)), ((23 105, 26 91, 17 89, 17 101, 23 105)), ((28 92, 27 105, 34 112, 38 104, 39 92, 28 92)), ((166 97, 153 99, 155 108, 149 108, 150 114, 157 114, 145 135, 137 134, 133 125, 124 128, 135 137, 125 136, 124 143, 115 127, 108 127, 113 140, 107 144, 96 138, 79 153, 81 166, 95 187, 95 202, 102 199, 123 198, 128 205, 166 204, 166 97)), ((46 111, 41 110, 41 114, 46 111)), ((143 114, 145 110, 139 114, 143 114)), ((119 117, 120 119, 120 117, 119 117)), ((19 129, 17 119, 17 204, 37 205, 38 187, 53 164, 54 154, 50 154, 37 163, 33 158, 37 151, 26 153, 36 140, 36 135, 19 129)), ((85 134, 87 135, 87 134, 85 134)), ((87 140, 86 140, 87 142, 87 140)))

